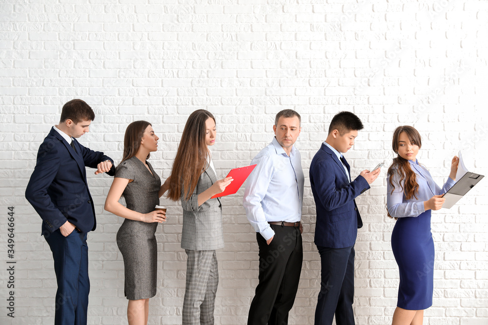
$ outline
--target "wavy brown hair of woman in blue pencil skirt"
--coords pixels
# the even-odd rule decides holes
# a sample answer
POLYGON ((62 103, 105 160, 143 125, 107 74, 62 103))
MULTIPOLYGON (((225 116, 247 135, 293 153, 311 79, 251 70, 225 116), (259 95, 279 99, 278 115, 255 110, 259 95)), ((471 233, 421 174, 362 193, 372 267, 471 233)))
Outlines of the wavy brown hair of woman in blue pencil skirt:
MULTIPOLYGON (((393 151, 398 154, 398 139, 400 138, 400 134, 405 132, 407 134, 410 143, 416 144, 417 146, 422 147, 422 137, 420 136, 419 132, 415 130, 414 127, 409 125, 399 126, 393 132, 393 140, 391 141, 391 147, 393 151)), ((396 158, 393 158, 393 163, 388 168, 388 182, 391 186, 391 192, 395 190, 395 185, 393 184, 393 174, 398 173, 400 176, 400 180, 398 183, 400 184, 400 188, 405 193, 405 198, 407 200, 415 197, 417 199, 417 194, 419 193, 419 184, 417 183, 416 175, 412 171, 410 167, 410 163, 407 159, 402 158, 399 154, 396 158), (402 185, 402 181, 405 180, 405 184, 402 185)), ((388 212, 388 217, 392 218, 390 213, 388 212)))

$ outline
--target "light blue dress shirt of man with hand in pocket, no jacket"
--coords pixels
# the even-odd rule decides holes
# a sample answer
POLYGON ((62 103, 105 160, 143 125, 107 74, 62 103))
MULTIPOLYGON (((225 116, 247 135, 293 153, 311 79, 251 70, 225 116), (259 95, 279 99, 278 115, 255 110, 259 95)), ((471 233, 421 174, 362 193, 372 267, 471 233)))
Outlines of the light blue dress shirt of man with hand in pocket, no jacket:
POLYGON ((251 162, 257 166, 247 178, 243 205, 252 227, 266 240, 275 234, 268 221, 302 218, 305 176, 301 159, 295 146, 288 157, 273 138, 251 162))

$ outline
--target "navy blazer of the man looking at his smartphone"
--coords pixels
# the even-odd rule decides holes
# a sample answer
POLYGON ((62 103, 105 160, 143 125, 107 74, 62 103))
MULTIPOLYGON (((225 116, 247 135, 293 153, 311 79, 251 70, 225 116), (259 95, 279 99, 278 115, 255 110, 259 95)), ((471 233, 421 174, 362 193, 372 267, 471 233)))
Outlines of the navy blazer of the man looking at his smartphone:
MULTIPOLYGON (((345 165, 350 174, 349 164, 345 165)), ((359 175, 349 182, 342 162, 324 143, 312 159, 309 175, 317 213, 315 245, 353 246, 363 226, 354 199, 369 189, 366 179, 359 175)))

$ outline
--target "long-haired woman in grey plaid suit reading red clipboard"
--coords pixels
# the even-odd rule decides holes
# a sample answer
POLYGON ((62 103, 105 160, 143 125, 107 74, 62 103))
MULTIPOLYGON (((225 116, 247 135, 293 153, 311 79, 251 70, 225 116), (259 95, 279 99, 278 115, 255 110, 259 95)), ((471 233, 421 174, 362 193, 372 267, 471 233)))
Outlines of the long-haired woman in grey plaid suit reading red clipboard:
POLYGON ((231 177, 217 180, 209 146, 215 143, 214 116, 193 112, 186 121, 170 176, 168 197, 181 200, 182 248, 186 261, 183 325, 213 325, 219 284, 216 249, 224 247, 222 205, 219 198, 231 177))

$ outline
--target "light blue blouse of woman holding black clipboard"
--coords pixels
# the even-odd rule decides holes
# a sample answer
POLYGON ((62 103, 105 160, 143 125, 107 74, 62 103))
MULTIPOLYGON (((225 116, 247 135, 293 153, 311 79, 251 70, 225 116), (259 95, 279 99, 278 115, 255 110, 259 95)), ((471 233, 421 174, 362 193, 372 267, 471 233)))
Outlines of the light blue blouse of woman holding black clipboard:
MULTIPOLYGON (((393 185, 395 190, 391 192, 391 185, 389 182, 389 175, 386 178, 386 208, 390 215, 394 218, 402 217, 417 217, 421 213, 425 212, 424 201, 427 201, 434 195, 444 194, 456 183, 450 177, 447 177, 446 184, 442 189, 434 182, 430 173, 422 167, 418 160, 415 162, 408 160, 412 171, 415 172, 417 176, 417 183, 419 184, 419 192, 417 198, 412 197, 407 200, 404 195, 404 191, 400 187, 400 175, 398 172, 393 174, 393 185)), ((402 186, 404 186, 405 180, 402 181, 402 186)))

